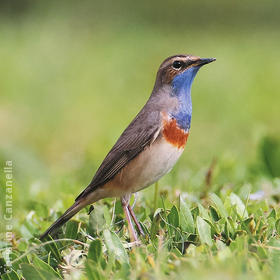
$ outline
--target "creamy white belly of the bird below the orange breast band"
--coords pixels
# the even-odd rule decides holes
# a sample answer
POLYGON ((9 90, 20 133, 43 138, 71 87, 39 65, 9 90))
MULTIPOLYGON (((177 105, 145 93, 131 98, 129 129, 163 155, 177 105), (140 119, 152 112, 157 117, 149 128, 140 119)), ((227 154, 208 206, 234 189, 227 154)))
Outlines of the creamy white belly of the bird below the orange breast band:
POLYGON ((121 181, 130 192, 137 192, 168 173, 183 151, 162 138, 128 164, 121 181))

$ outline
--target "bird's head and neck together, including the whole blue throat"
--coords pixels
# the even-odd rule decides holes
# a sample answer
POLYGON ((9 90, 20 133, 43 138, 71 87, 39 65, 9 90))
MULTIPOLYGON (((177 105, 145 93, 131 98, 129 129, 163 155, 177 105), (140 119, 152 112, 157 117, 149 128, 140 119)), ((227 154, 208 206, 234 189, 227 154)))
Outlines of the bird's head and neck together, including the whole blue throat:
POLYGON ((159 67, 151 95, 152 103, 159 104, 160 109, 175 118, 177 125, 184 130, 188 131, 191 125, 193 79, 200 67, 215 60, 194 55, 174 55, 165 59, 159 67), (171 98, 162 98, 163 94, 171 98))

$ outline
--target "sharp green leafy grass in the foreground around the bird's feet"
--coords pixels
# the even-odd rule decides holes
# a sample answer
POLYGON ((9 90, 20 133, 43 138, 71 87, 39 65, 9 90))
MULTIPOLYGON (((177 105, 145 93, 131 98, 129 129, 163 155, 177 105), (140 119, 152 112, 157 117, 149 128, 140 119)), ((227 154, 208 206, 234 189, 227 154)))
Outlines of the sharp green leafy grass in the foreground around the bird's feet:
MULTIPOLYGON (((279 188, 279 180, 273 184, 279 188)), ((158 205, 140 195, 135 210, 146 237, 139 247, 131 247, 121 205, 111 200, 97 203, 89 217, 80 213, 59 239, 41 243, 36 237, 61 213, 33 202, 21 238, 13 239, 13 272, 2 279, 277 279, 275 198, 253 200, 247 184, 200 199, 171 193, 157 193, 158 205)))

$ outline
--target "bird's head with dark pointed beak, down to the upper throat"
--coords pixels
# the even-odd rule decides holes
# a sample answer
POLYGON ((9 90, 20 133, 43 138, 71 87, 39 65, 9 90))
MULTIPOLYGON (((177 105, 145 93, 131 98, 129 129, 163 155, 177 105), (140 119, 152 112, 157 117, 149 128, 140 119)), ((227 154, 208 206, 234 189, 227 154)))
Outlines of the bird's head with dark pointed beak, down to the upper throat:
POLYGON ((174 55, 165 59, 157 73, 155 87, 171 85, 175 91, 190 90, 197 71, 215 58, 200 58, 194 55, 174 55))

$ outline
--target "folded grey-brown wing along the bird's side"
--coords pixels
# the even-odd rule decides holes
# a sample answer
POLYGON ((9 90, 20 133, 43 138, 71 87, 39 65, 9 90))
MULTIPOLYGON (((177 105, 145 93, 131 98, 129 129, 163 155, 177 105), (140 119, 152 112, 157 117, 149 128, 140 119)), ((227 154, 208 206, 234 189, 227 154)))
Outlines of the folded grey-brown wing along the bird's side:
POLYGON ((144 107, 122 133, 78 200, 111 180, 130 160, 151 144, 160 129, 160 112, 144 107))

